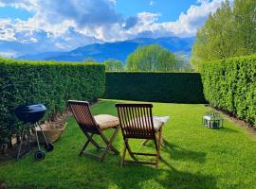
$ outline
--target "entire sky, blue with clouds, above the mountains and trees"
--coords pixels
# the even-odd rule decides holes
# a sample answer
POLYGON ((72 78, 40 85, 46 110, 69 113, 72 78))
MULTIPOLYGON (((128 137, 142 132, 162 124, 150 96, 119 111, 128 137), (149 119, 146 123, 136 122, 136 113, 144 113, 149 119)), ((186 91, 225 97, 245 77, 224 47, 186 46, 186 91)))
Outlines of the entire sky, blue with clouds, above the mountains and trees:
POLYGON ((194 37, 223 0, 0 0, 0 56, 194 37))

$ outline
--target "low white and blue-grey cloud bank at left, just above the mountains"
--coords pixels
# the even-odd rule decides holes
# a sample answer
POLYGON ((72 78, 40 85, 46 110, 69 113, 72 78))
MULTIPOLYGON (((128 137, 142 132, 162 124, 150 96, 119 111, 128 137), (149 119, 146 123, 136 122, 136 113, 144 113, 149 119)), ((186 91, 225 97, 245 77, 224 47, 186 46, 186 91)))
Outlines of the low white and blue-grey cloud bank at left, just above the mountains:
POLYGON ((44 29, 20 30, 11 24, 9 24, 9 29, 4 29, 4 36, 1 31, 0 28, 0 56, 5 57, 49 51, 69 51, 74 47, 90 43, 102 43, 98 39, 82 35, 73 27, 68 27, 63 35, 59 36, 46 32, 44 29))

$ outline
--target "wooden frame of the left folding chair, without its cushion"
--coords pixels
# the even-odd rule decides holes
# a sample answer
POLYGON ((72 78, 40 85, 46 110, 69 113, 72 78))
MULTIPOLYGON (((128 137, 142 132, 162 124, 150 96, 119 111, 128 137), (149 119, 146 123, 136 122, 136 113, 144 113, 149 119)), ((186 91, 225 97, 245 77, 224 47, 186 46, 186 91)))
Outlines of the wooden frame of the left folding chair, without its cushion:
POLYGON ((106 153, 108 151, 114 152, 116 155, 119 154, 119 151, 112 145, 115 137, 117 136, 119 132, 119 126, 107 128, 107 129, 115 129, 113 135, 108 140, 104 134, 103 131, 106 129, 101 129, 100 126, 97 124, 96 120, 94 119, 94 116, 91 113, 89 103, 87 101, 77 101, 77 100, 68 100, 68 106, 70 107, 71 111, 74 114, 74 117, 82 129, 82 132, 86 136, 87 140, 85 141, 84 146, 82 146, 82 150, 79 155, 85 154, 92 156, 99 160, 99 162, 102 162, 106 153), (102 141, 105 143, 105 147, 100 146, 94 139, 94 135, 100 135, 102 141), (100 155, 96 155, 94 153, 86 151, 86 147, 89 144, 92 144, 97 149, 103 149, 100 155))

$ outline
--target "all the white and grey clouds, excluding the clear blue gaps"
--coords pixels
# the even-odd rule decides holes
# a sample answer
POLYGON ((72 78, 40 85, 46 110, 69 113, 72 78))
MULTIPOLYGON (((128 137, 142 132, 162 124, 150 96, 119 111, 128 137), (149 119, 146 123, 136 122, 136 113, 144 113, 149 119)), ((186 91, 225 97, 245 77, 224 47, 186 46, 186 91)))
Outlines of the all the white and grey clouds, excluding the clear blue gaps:
MULTIPOLYGON (((19 45, 35 52, 70 50, 89 43, 115 42, 137 37, 191 37, 223 0, 197 0, 174 22, 159 23, 159 13, 139 12, 124 19, 116 9, 116 0, 0 0, 0 7, 26 9, 32 17, 26 21, 0 19, 0 50, 6 54, 19 45), (3 43, 10 50, 3 51, 3 43), (18 43, 11 47, 12 43, 18 43), (30 46, 29 46, 30 45, 30 46)), ((154 5, 155 1, 149 1, 154 5)), ((7 48, 4 48, 7 49, 7 48)))

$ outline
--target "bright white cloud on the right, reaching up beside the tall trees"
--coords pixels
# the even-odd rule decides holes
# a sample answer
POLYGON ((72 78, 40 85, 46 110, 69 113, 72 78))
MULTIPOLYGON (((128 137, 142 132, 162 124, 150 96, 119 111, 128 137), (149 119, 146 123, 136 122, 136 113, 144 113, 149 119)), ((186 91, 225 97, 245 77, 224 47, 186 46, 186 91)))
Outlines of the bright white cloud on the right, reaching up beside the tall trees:
POLYGON ((177 36, 192 37, 197 29, 203 26, 210 13, 214 12, 221 5, 223 0, 198 0, 199 5, 192 5, 186 13, 182 12, 175 22, 156 23, 159 14, 142 13, 138 14, 139 22, 132 28, 133 32, 147 32, 151 36, 177 36))

